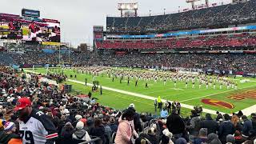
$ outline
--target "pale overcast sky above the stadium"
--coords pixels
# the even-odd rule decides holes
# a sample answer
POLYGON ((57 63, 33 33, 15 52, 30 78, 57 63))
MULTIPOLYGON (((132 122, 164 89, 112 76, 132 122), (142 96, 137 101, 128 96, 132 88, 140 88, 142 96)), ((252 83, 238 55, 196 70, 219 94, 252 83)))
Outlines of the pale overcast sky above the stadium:
MULTIPOLYGON (((209 0, 229 2, 230 0, 209 0)), ((62 42, 78 46, 93 40, 93 26, 106 28, 106 15, 119 15, 118 2, 138 2, 138 14, 163 14, 190 7, 186 0, 1 0, 0 13, 22 14, 22 8, 40 10, 41 18, 58 19, 61 22, 62 42)), ((204 1, 202 1, 204 2, 204 1)), ((202 2, 197 2, 198 4, 202 2)))

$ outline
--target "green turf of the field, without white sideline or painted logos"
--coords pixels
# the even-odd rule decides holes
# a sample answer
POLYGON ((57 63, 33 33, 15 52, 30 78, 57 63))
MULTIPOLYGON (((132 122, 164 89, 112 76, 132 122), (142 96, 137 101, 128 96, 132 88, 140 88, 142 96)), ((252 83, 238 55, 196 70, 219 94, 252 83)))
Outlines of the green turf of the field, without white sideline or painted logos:
MULTIPOLYGON (((32 70, 32 69, 30 69, 32 70)), ((45 74, 45 68, 37 68, 34 70, 35 72, 45 74)), ((52 69, 51 72, 61 72, 59 69, 52 69)), ((93 76, 90 74, 81 74, 77 73, 74 70, 64 70, 64 74, 66 74, 70 78, 70 74, 76 74, 77 81, 85 82, 85 78, 88 79, 88 83, 92 83, 93 76)), ((74 79, 74 78, 70 78, 74 79)), ((177 82, 177 87, 174 88, 174 82, 166 82, 166 86, 163 85, 163 82, 154 82, 149 81, 149 88, 145 88, 145 83, 143 80, 138 81, 138 87, 135 87, 135 81, 130 80, 130 85, 127 85, 126 79, 119 82, 119 78, 114 79, 112 82, 112 78, 108 78, 106 73, 99 74, 99 76, 95 77, 95 80, 100 82, 100 85, 118 89, 125 90, 128 92, 133 92, 136 94, 144 94, 146 96, 157 98, 161 96, 161 98, 170 100, 170 101, 178 101, 183 104, 187 104, 190 106, 200 106, 202 105, 206 109, 210 110, 219 110, 225 113, 237 112, 238 110, 246 109, 247 107, 254 106, 256 102, 256 91, 254 93, 250 91, 250 98, 244 98, 242 100, 234 100, 234 98, 228 98, 228 96, 232 94, 239 94, 246 92, 248 90, 255 90, 256 88, 256 79, 255 78, 246 78, 249 79, 250 82, 241 83, 240 81, 245 78, 231 78, 232 81, 238 83, 238 90, 234 89, 226 89, 226 86, 223 86, 222 90, 220 90, 218 85, 214 90, 212 87, 206 90, 206 86, 202 86, 202 89, 198 88, 198 84, 196 83, 195 89, 192 89, 192 84, 189 83, 188 88, 185 88, 184 82, 177 82), (254 98, 255 97, 255 98, 254 98), (227 108, 225 106, 217 104, 217 106, 212 106, 209 104, 205 104, 202 102, 203 98, 207 98, 213 100, 214 102, 222 101, 227 102, 233 105, 232 108, 227 108)), ((82 93, 87 94, 89 90, 91 90, 90 86, 84 86, 78 83, 71 83, 73 85, 74 90, 81 90, 82 93)), ((242 96, 245 94, 242 94, 242 96)), ((99 98, 99 102, 102 105, 111 106, 114 108, 123 108, 129 106, 131 102, 133 102, 137 109, 141 112, 154 112, 153 101, 146 98, 138 98, 130 94, 122 94, 113 90, 103 90, 103 95, 93 94, 93 96, 99 98)), ((240 96, 241 97, 241 96, 240 96)), ((182 111, 183 114, 189 114, 190 110, 184 109, 182 111)))

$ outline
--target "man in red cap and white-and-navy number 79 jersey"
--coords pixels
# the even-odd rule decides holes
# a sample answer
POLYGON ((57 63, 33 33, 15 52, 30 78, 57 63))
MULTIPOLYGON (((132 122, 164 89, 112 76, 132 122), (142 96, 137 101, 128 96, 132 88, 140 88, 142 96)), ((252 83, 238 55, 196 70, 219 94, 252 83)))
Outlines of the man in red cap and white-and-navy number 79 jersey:
POLYGON ((50 118, 42 111, 32 109, 30 99, 20 98, 14 108, 19 116, 19 132, 23 143, 54 143, 57 130, 50 118))

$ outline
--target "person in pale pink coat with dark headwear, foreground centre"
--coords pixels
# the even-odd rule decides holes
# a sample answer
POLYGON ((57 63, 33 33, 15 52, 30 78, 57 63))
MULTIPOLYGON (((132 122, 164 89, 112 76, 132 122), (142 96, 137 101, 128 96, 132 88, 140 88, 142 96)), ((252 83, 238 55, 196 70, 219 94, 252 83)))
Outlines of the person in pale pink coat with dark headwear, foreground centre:
POLYGON ((130 144, 133 137, 134 127, 130 121, 134 119, 134 110, 128 109, 119 118, 118 132, 114 139, 115 143, 130 144))

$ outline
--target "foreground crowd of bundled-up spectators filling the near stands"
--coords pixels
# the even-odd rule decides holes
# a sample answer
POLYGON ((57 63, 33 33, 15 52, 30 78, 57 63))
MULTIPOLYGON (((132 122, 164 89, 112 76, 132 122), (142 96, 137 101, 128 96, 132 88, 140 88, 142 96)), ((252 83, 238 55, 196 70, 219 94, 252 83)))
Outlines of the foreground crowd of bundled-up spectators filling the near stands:
POLYGON ((28 80, 27 74, 1 67, 0 76, 1 143, 24 143, 29 138, 34 143, 241 144, 254 143, 256 138, 256 114, 247 118, 242 111, 231 115, 217 112, 213 118, 211 114, 203 116, 198 110, 191 110, 191 116, 185 118, 177 110, 170 110, 162 118, 138 113, 134 104, 115 110, 101 106, 94 98, 73 98, 58 86, 39 82, 40 74, 30 74, 32 78, 28 80), (24 115, 24 110, 31 111, 24 115), (22 135, 24 118, 37 118, 33 114, 45 121, 42 123, 48 128, 47 134, 54 131, 58 137, 38 136, 32 141, 35 131, 30 137, 22 135))

